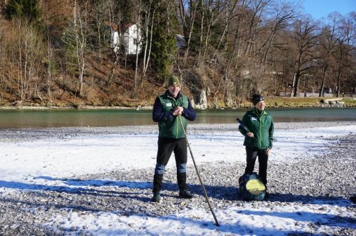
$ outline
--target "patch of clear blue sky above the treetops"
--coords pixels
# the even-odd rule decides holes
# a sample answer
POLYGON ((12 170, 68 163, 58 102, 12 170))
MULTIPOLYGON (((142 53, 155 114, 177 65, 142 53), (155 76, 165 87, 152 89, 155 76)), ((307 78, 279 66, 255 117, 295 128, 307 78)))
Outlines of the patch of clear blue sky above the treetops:
POLYGON ((309 13, 315 19, 327 17, 330 12, 340 12, 346 15, 356 11, 356 0, 300 0, 304 13, 309 13))

